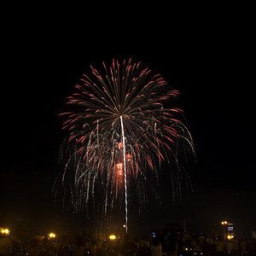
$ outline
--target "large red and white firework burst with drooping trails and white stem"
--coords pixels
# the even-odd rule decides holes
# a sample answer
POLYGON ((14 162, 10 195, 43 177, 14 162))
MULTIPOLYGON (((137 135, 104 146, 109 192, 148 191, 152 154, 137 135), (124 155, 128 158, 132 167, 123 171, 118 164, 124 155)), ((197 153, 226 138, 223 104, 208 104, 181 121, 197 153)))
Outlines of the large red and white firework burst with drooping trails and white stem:
POLYGON ((188 176, 179 165, 177 148, 194 153, 194 147, 183 111, 173 107, 178 91, 160 74, 131 60, 113 60, 110 67, 103 62, 103 67, 102 73, 91 67, 90 76, 83 74, 76 92, 67 97, 68 112, 61 113, 67 131, 61 149, 62 183, 70 183, 77 210, 86 209, 95 193, 102 195, 105 214, 125 201, 127 227, 132 181, 143 206, 143 183, 148 173, 158 180, 159 165, 166 160, 176 166, 171 171, 172 194, 180 195, 188 176))

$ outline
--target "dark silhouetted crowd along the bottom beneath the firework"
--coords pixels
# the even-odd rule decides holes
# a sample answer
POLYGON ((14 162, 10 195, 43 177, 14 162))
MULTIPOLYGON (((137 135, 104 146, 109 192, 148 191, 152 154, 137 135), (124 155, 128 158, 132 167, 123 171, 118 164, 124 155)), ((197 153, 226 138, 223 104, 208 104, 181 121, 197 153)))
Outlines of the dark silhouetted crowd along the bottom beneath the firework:
POLYGON ((125 233, 116 239, 100 232, 66 232, 54 239, 34 236, 20 241, 15 236, 0 237, 2 255, 55 256, 185 256, 185 255, 256 255, 255 239, 227 239, 212 234, 186 232, 152 233, 149 236, 130 237, 125 233))

